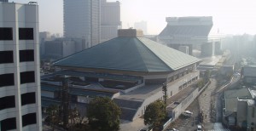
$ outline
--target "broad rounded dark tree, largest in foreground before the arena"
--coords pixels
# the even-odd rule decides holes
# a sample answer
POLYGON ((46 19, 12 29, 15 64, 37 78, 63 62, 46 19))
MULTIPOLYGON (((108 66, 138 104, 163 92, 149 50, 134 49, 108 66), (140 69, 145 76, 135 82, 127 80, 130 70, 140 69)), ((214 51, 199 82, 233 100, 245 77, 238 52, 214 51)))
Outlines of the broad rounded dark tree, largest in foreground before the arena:
POLYGON ((108 97, 96 97, 87 108, 90 127, 100 131, 119 130, 120 114, 119 106, 108 97))

